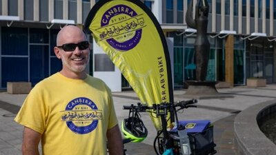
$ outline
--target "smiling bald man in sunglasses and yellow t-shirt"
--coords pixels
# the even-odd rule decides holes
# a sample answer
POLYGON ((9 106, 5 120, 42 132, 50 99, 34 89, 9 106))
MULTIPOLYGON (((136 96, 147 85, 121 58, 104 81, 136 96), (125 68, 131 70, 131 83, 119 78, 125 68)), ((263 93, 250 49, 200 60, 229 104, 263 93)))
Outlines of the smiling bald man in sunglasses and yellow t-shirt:
POLYGON ((110 89, 85 72, 90 45, 82 30, 68 25, 54 48, 63 68, 32 89, 14 121, 24 126, 23 155, 123 154, 110 89))

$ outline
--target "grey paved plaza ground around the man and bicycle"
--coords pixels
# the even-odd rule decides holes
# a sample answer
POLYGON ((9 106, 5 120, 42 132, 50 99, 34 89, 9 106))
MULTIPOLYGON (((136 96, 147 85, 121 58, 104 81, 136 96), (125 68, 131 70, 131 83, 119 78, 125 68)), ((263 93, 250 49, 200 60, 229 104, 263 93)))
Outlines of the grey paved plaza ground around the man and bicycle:
MULTIPOLYGON (((186 90, 175 90, 175 101, 186 100, 183 94, 186 90)), ((233 121, 235 116, 251 105, 276 99, 276 85, 267 87, 248 88, 233 87, 218 89, 221 94, 231 96, 225 99, 200 99, 197 108, 189 108, 178 114, 180 120, 209 119, 214 123, 214 139, 217 144, 217 154, 235 155, 233 136, 233 121)), ((13 119, 17 114, 26 94, 7 94, 0 92, 0 155, 21 154, 22 129, 14 123, 13 119)), ((139 100, 132 91, 114 92, 115 109, 119 122, 126 116, 128 111, 122 110, 123 105, 136 104, 139 100)), ((142 114, 143 121, 148 128, 148 138, 143 143, 128 143, 125 145, 128 154, 152 155, 155 154, 152 147, 156 135, 148 114, 142 114)))

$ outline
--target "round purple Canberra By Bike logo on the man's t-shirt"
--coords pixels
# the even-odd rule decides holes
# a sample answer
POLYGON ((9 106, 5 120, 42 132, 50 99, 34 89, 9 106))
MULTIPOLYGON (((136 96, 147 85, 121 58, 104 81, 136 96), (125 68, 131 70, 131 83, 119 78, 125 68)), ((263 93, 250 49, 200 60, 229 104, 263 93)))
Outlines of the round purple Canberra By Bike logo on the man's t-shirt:
POLYGON ((97 105, 85 97, 73 99, 61 112, 61 121, 65 121, 69 129, 77 134, 88 134, 95 130, 102 117, 97 105))

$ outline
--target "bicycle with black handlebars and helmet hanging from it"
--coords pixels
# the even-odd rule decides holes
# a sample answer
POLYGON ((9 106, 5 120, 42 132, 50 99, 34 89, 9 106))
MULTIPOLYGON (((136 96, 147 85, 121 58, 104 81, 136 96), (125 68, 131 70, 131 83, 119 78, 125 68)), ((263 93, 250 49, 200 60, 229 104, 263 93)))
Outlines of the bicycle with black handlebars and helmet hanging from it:
MULTIPOLYGON (((155 113, 157 117, 161 118, 161 130, 157 131, 157 136, 155 137, 153 147, 155 149, 155 153, 157 155, 162 154, 215 154, 216 151, 214 149, 215 143, 213 142, 213 126, 207 127, 207 129, 204 132, 208 132, 211 135, 211 137, 208 139, 208 143, 204 142, 203 145, 201 145, 202 142, 200 142, 197 138, 200 136, 200 133, 189 133, 188 137, 188 145, 190 144, 191 147, 188 145, 182 145, 181 138, 179 138, 179 131, 184 130, 184 125, 181 125, 178 121, 177 112, 179 110, 183 110, 184 108, 188 107, 197 107, 196 105, 193 105, 197 103, 197 100, 188 100, 188 101, 180 101, 178 103, 161 103, 161 104, 154 104, 152 106, 144 105, 141 103, 137 103, 137 105, 124 105, 124 110, 129 110, 128 118, 124 119, 122 123, 122 131, 124 133, 124 136, 128 139, 133 140, 134 142, 141 142, 146 138, 147 130, 146 127, 143 127, 144 123, 139 120, 141 115, 139 112, 150 112, 155 113), (177 108, 179 107, 179 108, 177 108), (166 119, 168 116, 168 112, 172 112, 174 114, 175 123, 174 128, 172 130, 167 130, 168 128, 168 120, 166 119), (138 120, 138 121, 137 121, 138 120), (126 127, 126 121, 129 121, 130 124, 128 127, 126 127), (131 123, 131 121, 133 121, 131 123), (136 122, 135 122, 136 121, 136 122), (141 127, 140 127, 141 126, 141 127), (135 127, 138 127, 135 128, 135 127), (127 128, 127 129, 126 129, 127 128), (125 131, 128 130, 128 131, 125 131), (144 132, 141 132, 142 135, 139 137, 135 137, 136 132, 139 130, 144 130, 144 132), (132 132, 135 133, 132 133, 132 132), (127 135, 126 135, 127 134, 127 135), (133 135, 134 138, 132 137, 133 135), (198 144, 199 143, 199 144, 198 144), (158 145, 158 149, 157 149, 158 145)), ((168 118, 170 119, 170 118, 168 118)))

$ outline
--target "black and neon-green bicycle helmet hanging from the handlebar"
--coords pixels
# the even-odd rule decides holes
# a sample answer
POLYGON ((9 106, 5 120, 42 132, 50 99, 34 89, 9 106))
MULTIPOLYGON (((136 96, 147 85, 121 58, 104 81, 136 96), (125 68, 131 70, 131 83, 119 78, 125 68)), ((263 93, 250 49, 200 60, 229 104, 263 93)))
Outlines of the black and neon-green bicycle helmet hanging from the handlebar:
POLYGON ((135 143, 144 141, 148 136, 148 130, 143 121, 137 117, 125 118, 121 123, 121 130, 126 138, 135 143))

